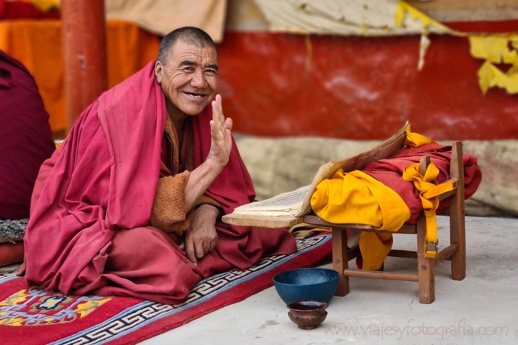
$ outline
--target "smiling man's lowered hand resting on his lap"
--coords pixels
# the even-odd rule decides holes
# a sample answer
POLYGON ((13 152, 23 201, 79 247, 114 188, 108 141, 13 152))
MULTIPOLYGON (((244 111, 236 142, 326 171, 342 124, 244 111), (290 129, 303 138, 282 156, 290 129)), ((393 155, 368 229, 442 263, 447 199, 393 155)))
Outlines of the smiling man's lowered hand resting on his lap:
POLYGON ((220 209, 212 205, 200 205, 195 209, 189 230, 183 236, 180 249, 185 249, 187 258, 197 264, 218 242, 215 223, 220 209))

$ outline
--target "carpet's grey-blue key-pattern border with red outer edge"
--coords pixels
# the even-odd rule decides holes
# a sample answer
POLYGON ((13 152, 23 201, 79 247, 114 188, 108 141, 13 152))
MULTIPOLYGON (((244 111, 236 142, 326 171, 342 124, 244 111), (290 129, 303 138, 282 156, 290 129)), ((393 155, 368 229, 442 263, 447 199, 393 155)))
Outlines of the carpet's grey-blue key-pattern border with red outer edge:
MULTIPOLYGON (((248 269, 227 271, 205 278, 194 286, 188 299, 180 304, 170 306, 142 301, 97 325, 50 344, 135 344, 151 338, 272 286, 271 278, 279 272, 318 264, 330 254, 330 239, 330 233, 324 233, 296 240, 296 253, 265 257, 248 269), (213 298, 215 296, 224 298, 213 298)), ((0 284, 16 278, 13 274, 0 275, 0 284)))

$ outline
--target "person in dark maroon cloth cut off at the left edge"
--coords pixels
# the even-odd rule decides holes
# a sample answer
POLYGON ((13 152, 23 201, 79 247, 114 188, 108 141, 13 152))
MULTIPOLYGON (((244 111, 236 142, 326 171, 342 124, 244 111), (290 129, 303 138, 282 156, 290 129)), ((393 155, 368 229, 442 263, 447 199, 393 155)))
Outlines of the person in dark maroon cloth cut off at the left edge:
POLYGON ((34 78, 2 50, 0 118, 0 220, 25 219, 38 170, 55 146, 34 78))

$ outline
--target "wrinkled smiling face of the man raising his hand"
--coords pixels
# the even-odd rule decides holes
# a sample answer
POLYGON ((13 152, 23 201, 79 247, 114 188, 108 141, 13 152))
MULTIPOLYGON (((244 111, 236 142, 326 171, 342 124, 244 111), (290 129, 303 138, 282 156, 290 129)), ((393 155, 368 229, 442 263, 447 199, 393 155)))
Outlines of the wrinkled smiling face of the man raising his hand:
POLYGON ((156 61, 155 79, 164 93, 168 113, 197 115, 218 91, 217 53, 209 44, 202 47, 179 40, 163 61, 156 61))

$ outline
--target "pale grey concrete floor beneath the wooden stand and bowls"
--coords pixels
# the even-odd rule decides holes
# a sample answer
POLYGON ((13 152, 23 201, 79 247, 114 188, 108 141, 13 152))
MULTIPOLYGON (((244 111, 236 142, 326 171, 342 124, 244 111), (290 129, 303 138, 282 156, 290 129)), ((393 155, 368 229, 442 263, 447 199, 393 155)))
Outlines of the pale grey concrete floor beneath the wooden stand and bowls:
MULTIPOLYGON (((444 245, 447 224, 438 217, 444 245)), ((518 219, 466 217, 466 238, 466 278, 452 280, 449 262, 438 266, 432 304, 419 303, 415 282, 350 278, 351 292, 333 297, 327 319, 303 330, 272 287, 140 344, 517 344, 518 219)), ((414 241, 396 234, 394 249, 414 241)), ((385 271, 414 267, 412 259, 385 261, 385 271)))

